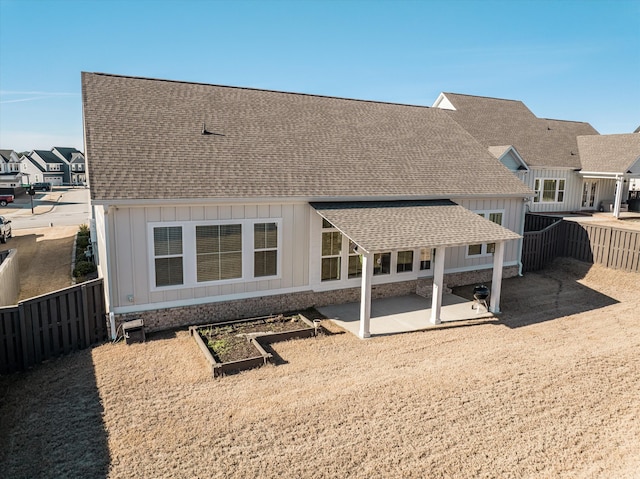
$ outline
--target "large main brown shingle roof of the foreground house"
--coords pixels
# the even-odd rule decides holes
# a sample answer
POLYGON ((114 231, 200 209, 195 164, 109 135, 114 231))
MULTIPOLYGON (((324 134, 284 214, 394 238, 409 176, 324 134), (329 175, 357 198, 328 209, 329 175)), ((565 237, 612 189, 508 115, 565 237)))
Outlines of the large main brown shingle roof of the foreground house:
POLYGON ((434 108, 99 73, 82 86, 97 201, 532 194, 434 108))

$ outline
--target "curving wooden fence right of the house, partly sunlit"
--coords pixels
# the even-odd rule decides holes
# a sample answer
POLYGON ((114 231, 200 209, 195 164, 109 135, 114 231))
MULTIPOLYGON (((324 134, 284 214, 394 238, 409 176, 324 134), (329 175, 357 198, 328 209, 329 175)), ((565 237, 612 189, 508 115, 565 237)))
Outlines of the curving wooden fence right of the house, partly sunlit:
MULTIPOLYGON (((536 271, 558 256, 569 256, 607 268, 640 273, 640 231, 553 219, 556 222, 540 231, 525 230, 523 271, 536 271)), ((530 224, 542 223, 532 220, 530 224)))

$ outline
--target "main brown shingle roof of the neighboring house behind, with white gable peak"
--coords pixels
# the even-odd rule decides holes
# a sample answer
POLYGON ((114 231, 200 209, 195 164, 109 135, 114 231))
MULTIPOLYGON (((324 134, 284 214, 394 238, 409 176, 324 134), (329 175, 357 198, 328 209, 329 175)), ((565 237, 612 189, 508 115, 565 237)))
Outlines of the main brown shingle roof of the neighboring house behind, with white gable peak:
POLYGON ((529 166, 580 168, 576 137, 597 135, 588 123, 536 117, 524 103, 445 93, 446 110, 485 147, 513 145, 529 166))

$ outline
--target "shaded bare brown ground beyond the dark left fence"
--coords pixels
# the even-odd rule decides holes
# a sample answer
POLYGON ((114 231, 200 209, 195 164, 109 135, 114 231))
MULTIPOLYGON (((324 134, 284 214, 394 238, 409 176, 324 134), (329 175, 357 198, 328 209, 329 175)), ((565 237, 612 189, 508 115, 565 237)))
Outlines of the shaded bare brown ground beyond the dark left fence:
POLYGON ((71 286, 71 254, 78 226, 14 230, 5 245, 18 250, 19 301, 71 286))

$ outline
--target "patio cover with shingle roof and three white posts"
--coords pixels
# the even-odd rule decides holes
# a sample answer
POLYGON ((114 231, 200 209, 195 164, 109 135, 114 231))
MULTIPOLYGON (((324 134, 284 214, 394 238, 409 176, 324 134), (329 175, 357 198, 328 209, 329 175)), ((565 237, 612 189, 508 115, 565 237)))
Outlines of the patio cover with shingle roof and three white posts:
POLYGON ((316 212, 349 238, 362 261, 357 335, 371 336, 371 285, 376 255, 386 251, 435 250, 430 315, 419 315, 422 328, 442 322, 446 250, 478 243, 494 243, 489 311, 500 312, 505 242, 520 235, 450 200, 310 203, 316 212))

